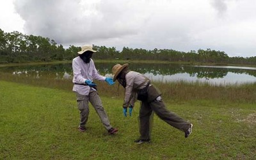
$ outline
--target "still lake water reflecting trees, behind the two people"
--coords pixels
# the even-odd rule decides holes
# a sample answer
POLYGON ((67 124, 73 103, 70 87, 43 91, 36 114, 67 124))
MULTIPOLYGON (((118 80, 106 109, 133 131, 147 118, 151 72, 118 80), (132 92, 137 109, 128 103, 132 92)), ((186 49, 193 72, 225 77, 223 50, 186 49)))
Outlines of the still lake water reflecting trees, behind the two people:
MULTIPOLYGON (((107 77, 111 76, 113 65, 115 64, 95 63, 99 73, 107 77)), ((132 63, 129 68, 144 74, 152 81, 160 81, 161 83, 170 81, 200 82, 213 85, 256 83, 255 67, 132 63)), ((13 76, 26 76, 35 79, 45 76, 52 79, 72 79, 72 64, 1 67, 0 72, 8 72, 13 76)))

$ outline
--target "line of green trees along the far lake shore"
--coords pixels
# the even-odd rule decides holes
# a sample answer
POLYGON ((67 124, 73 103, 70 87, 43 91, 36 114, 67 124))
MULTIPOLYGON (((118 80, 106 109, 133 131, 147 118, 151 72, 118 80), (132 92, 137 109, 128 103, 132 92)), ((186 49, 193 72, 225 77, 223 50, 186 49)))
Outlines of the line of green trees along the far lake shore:
MULTIPOLYGON (((115 47, 93 45, 98 60, 159 60, 186 61, 191 63, 218 63, 256 65, 254 57, 228 57, 224 51, 198 49, 198 51, 181 52, 173 49, 132 49, 123 47, 117 51, 115 47)), ((4 33, 0 29, 0 63, 20 63, 26 61, 62 61, 72 60, 81 47, 70 45, 67 49, 50 38, 24 35, 18 31, 4 33)))

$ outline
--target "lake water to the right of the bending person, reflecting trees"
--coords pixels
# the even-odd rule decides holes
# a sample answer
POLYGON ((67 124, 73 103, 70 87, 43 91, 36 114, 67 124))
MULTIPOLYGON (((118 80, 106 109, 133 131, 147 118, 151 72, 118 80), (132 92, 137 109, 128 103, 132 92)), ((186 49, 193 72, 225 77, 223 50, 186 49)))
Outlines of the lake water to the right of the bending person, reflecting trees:
POLYGON ((210 84, 243 84, 256 82, 255 67, 232 66, 181 66, 181 65, 131 65, 154 81, 207 82, 210 84))

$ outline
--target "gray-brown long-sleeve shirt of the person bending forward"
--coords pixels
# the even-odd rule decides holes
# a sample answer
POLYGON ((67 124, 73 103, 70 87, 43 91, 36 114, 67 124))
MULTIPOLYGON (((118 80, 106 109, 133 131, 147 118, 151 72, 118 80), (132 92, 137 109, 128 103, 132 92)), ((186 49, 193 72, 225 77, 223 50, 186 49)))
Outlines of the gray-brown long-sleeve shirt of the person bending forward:
POLYGON ((125 76, 126 87, 123 107, 127 108, 129 103, 134 104, 136 99, 136 92, 145 86, 147 86, 147 77, 143 76, 139 72, 130 71, 125 76))

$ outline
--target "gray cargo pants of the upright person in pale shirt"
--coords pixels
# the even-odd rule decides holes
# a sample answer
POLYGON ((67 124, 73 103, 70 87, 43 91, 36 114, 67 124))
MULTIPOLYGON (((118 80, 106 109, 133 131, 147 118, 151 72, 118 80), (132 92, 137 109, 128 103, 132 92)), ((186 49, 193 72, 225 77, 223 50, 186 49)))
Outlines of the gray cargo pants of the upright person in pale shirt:
POLYGON ((100 120, 104 125, 104 127, 106 128, 106 130, 108 131, 109 129, 111 129, 112 126, 109 123, 108 115, 106 114, 106 111, 102 106, 102 102, 100 100, 100 97, 97 91, 91 89, 89 95, 81 95, 79 93, 76 93, 76 97, 77 97, 77 106, 80 111, 81 126, 85 127, 86 122, 88 120, 88 116, 89 116, 88 102, 90 102, 93 108, 95 109, 95 111, 97 112, 97 114, 99 115, 100 120))

